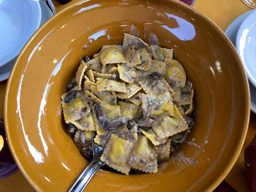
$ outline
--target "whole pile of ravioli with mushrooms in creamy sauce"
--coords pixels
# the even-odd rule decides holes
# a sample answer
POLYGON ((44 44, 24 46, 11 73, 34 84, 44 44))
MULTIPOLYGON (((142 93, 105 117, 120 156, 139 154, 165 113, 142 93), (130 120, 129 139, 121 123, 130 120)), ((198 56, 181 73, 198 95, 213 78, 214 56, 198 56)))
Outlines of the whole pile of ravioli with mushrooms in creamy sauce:
POLYGON ((67 88, 63 115, 80 153, 92 159, 94 141, 104 149, 101 161, 123 174, 156 173, 192 131, 194 89, 185 69, 173 49, 139 37, 124 34, 122 45, 86 56, 67 88))

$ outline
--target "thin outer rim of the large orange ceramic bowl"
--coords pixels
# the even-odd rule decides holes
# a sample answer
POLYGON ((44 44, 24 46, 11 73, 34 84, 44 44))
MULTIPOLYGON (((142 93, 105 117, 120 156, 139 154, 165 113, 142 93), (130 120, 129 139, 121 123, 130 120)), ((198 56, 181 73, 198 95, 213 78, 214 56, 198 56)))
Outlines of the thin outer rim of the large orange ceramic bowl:
MULTIPOLYGON (((19 168, 19 170, 21 171, 21 173, 24 175, 24 177, 26 178, 26 180, 29 182, 29 184, 38 192, 43 192, 43 190, 41 190, 40 188, 38 188, 36 186, 36 183, 35 183, 35 180, 34 179, 30 179, 29 175, 26 174, 26 171, 23 169, 23 167, 21 166, 20 162, 19 162, 19 159, 18 157, 16 156, 15 154, 15 150, 12 146, 12 143, 11 143, 11 139, 9 137, 9 130, 8 130, 8 121, 7 121, 7 108, 8 108, 8 104, 7 104, 7 100, 8 100, 8 91, 9 91, 9 88, 11 86, 11 79, 12 79, 12 76, 13 76, 13 73, 14 73, 14 69, 21 57, 21 55, 23 54, 23 52, 27 49, 27 47, 29 46, 30 42, 35 38, 35 36, 40 33, 41 29, 44 28, 44 26, 46 26, 49 22, 51 22, 55 17, 57 17, 58 15, 62 14, 63 12, 65 12, 66 10, 72 8, 72 7, 75 7, 77 5, 80 5, 82 3, 85 3, 85 2, 89 2, 89 1, 93 1, 93 0, 80 0, 78 2, 75 2, 67 7, 65 7, 64 9, 62 9, 60 12, 57 12, 55 15, 53 15, 53 17, 50 17, 50 19, 48 19, 40 28, 37 29, 37 31, 31 36, 31 38, 28 40, 28 42, 25 44, 25 46, 22 48, 22 50, 20 51, 14 65, 13 65, 13 68, 11 70, 11 73, 10 73, 10 76, 8 78, 8 81, 7 81, 7 84, 6 84, 6 94, 5 94, 5 101, 4 101, 4 121, 5 121, 5 132, 6 132, 6 137, 7 137, 7 142, 8 142, 8 146, 10 148, 10 151, 13 155, 13 158, 19 168)), ((139 0, 138 0, 139 1, 139 0)), ((245 73, 245 70, 244 70, 244 67, 243 67, 243 64, 241 62, 241 59, 239 57, 239 54, 235 48, 235 46, 232 44, 232 42, 228 39, 228 37, 225 35, 225 33, 211 20, 209 19, 208 17, 206 17, 204 14, 202 14, 201 12, 195 10, 194 8, 192 8, 191 6, 185 4, 185 3, 182 3, 180 1, 177 1, 177 0, 163 0, 163 1, 166 1, 166 2, 173 2, 175 4, 180 4, 181 6, 185 6, 187 9, 190 9, 191 11, 193 11, 194 13, 200 15, 200 17, 202 17, 204 20, 206 20, 207 22, 209 22, 211 24, 211 26, 213 28, 215 28, 219 33, 220 35, 226 39, 228 41, 228 45, 231 47, 231 49, 234 51, 236 57, 238 58, 238 60, 240 61, 239 62, 239 67, 241 69, 241 75, 242 77, 247 80, 247 76, 246 76, 246 73, 245 73)), ((233 153, 233 155, 231 156, 230 158, 230 161, 229 163, 226 165, 226 168, 223 169, 220 173, 218 173, 218 177, 216 177, 213 182, 209 185, 209 186, 206 186, 205 187, 205 192, 212 192, 224 179, 225 177, 227 176, 227 174, 230 172, 230 170, 232 169, 233 165, 236 163, 238 157, 239 157, 239 154, 242 150, 242 147, 243 147, 243 144, 244 144, 244 141, 245 141, 245 137, 246 137, 246 133, 247 133, 247 130, 248 130, 248 125, 249 125, 249 119, 250 119, 250 91, 249 91, 249 84, 248 84, 248 81, 245 81, 244 84, 246 85, 246 101, 247 101, 247 105, 245 106, 245 109, 246 109, 246 114, 245 114, 245 121, 243 123, 243 131, 242 131, 242 134, 240 135, 240 140, 238 142, 238 145, 237 145, 237 151, 233 153)))

